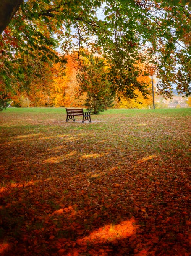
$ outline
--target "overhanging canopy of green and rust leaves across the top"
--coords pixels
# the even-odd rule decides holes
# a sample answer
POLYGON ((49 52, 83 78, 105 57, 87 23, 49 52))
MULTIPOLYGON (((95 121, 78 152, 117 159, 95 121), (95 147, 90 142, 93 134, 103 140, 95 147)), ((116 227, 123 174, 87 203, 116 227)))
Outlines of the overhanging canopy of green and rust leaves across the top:
MULTIPOLYGON (((12 1, 3 1, 1 5, 9 2, 12 1)), ((22 83, 26 74, 40 76, 40 69, 34 70, 32 61, 64 63, 62 56, 72 50, 77 50, 79 56, 81 48, 97 52, 107 60, 113 92, 135 98, 138 89, 146 96, 148 86, 138 80, 138 76, 148 75, 146 69, 140 69, 139 64, 144 63, 155 66, 158 93, 170 97, 172 86, 176 85, 178 92, 188 96, 191 8, 186 3, 15 1, 7 19, 2 16, 0 20, 1 30, 8 24, 0 36, 0 96, 22 83), (58 46, 60 56, 56 52, 58 46), (32 61, 23 65, 23 55, 32 61)))

